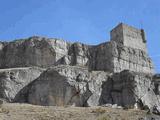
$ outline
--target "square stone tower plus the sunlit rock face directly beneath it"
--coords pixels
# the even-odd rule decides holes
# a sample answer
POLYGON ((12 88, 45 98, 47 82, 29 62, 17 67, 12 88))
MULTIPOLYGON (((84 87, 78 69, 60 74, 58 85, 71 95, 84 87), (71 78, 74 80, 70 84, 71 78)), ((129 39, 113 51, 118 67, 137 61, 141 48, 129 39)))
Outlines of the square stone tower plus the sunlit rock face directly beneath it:
POLYGON ((131 70, 135 72, 154 73, 153 63, 147 53, 145 32, 120 23, 111 30, 111 43, 115 51, 111 57, 113 72, 131 70))

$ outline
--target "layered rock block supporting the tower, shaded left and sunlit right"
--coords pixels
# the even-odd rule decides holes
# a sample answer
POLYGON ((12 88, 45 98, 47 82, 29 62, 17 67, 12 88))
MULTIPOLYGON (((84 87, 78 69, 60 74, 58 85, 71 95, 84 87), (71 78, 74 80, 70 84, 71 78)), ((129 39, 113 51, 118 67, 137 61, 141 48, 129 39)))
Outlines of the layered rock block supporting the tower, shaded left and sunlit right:
POLYGON ((108 72, 131 70, 154 73, 153 63, 145 51, 110 41, 90 48, 89 69, 108 72))

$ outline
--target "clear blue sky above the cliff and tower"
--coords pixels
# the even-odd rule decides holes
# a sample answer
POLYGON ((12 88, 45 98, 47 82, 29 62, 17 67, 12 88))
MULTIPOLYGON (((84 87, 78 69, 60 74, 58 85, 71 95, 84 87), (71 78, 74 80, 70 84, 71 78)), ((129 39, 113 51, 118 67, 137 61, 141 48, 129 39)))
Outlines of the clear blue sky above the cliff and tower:
POLYGON ((0 0, 0 40, 39 35, 99 44, 120 22, 143 28, 160 73, 160 0, 0 0))

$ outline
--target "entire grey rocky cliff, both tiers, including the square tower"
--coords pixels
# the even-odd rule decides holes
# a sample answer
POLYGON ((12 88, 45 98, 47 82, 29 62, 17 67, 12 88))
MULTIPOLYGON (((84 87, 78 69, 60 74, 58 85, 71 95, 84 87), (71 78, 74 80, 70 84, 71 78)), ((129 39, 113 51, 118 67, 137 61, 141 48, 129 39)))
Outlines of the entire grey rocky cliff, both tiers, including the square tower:
POLYGON ((36 105, 153 109, 159 106, 160 84, 141 32, 120 24, 111 41, 94 46, 44 37, 0 42, 0 98, 36 105), (132 40, 142 47, 132 47, 132 40))

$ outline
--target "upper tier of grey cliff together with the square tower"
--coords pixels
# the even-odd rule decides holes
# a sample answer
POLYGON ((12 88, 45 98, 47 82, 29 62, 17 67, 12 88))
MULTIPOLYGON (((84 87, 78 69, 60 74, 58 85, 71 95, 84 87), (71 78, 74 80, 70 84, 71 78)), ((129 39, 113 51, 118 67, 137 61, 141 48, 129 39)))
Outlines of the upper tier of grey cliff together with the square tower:
POLYGON ((110 35, 109 42, 95 46, 43 37, 1 42, 0 68, 66 64, 87 67, 90 71, 154 73, 144 30, 120 23, 110 35))

